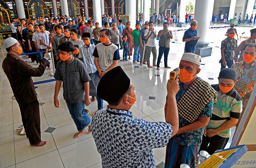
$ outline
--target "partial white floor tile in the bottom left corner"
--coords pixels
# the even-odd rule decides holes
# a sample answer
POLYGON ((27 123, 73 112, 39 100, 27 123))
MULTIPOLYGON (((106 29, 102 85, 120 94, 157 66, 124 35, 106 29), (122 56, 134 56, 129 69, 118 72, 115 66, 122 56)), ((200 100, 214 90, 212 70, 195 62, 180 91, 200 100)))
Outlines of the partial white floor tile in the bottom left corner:
POLYGON ((0 145, 0 168, 15 164, 14 141, 0 145))

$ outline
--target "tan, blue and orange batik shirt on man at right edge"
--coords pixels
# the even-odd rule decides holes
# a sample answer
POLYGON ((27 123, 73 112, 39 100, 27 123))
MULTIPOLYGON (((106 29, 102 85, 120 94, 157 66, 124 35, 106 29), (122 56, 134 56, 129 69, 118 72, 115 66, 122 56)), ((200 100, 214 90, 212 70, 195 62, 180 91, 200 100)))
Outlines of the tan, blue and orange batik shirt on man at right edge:
POLYGON ((237 73, 237 83, 234 87, 242 97, 243 108, 245 108, 256 83, 256 61, 254 60, 249 67, 245 66, 244 61, 240 61, 233 64, 231 68, 235 69, 237 73))

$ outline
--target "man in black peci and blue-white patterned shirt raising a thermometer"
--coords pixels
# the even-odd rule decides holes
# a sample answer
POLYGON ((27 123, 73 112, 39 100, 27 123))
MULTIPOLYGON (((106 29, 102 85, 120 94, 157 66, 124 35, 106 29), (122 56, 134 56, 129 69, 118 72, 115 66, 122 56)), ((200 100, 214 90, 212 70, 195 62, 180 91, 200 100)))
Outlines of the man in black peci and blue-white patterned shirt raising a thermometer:
POLYGON ((98 97, 108 102, 91 122, 91 132, 101 155, 102 167, 154 168, 153 148, 164 147, 179 128, 175 95, 178 79, 168 81, 166 122, 133 118, 134 86, 120 66, 108 71, 98 84, 98 97))

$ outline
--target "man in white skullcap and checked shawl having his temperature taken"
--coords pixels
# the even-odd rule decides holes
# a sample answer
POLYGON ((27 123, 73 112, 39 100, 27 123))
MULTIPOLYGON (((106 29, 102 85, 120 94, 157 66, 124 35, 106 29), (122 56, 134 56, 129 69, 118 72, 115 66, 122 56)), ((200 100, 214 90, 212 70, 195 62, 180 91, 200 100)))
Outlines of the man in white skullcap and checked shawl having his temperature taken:
POLYGON ((200 64, 201 57, 193 53, 184 53, 179 63, 179 92, 176 94, 179 131, 166 146, 165 168, 177 168, 182 163, 195 167, 202 135, 216 102, 216 91, 197 76, 200 64))

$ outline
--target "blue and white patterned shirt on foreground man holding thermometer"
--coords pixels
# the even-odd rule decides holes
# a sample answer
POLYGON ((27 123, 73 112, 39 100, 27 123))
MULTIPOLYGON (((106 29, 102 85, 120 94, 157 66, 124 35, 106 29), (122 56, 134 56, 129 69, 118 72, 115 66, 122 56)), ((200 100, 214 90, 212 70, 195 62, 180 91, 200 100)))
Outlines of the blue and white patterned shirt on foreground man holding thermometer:
POLYGON ((91 132, 103 168, 155 168, 153 148, 164 147, 172 136, 166 122, 132 118, 133 113, 107 107, 92 118, 91 132))

